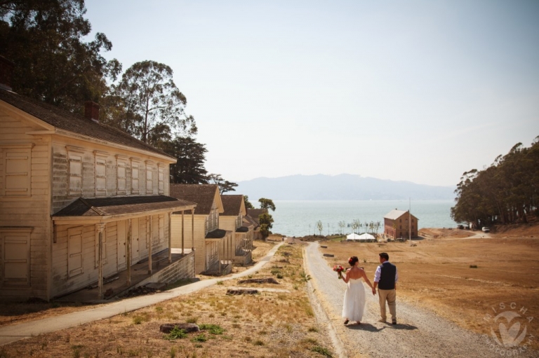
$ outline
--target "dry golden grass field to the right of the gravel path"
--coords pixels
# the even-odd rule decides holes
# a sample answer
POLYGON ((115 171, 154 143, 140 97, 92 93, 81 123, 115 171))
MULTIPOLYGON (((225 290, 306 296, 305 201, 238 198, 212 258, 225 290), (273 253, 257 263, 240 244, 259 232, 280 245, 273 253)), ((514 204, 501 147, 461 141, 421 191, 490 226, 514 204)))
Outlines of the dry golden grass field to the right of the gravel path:
MULTIPOLYGON (((387 252, 399 270, 397 300, 430 308, 478 333, 490 333, 498 313, 516 310, 527 324, 527 337, 539 337, 539 226, 479 239, 467 239, 471 234, 462 230, 430 234, 437 238, 414 240, 415 246, 325 241, 328 248, 322 250, 335 254, 327 258, 330 266, 344 266, 349 256, 358 256, 369 278, 379 264, 378 253, 387 252)), ((539 339, 528 344, 537 349, 539 339)))

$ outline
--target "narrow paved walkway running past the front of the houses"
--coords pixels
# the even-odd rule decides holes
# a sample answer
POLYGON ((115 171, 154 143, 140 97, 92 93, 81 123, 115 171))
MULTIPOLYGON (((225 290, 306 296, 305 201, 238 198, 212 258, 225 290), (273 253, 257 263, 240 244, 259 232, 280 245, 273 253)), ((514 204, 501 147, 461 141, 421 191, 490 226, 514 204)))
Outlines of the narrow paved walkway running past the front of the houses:
POLYGON ((205 289, 206 287, 211 287, 218 281, 233 280, 238 277, 251 275, 252 273, 260 270, 262 266, 269 262, 281 245, 283 245, 283 242, 279 242, 278 245, 275 245, 275 247, 273 247, 266 256, 260 259, 255 266, 248 268, 248 270, 241 273, 227 277, 218 277, 210 280, 194 282, 192 284, 171 289, 170 291, 160 292, 159 294, 126 298, 125 300, 110 303, 99 308, 90 308, 84 311, 67 313, 66 315, 37 319, 35 321, 0 327, 0 346, 15 342, 15 340, 21 340, 32 336, 37 336, 39 334, 51 333, 60 329, 78 326, 79 324, 86 324, 88 322, 98 321, 99 319, 120 315, 124 312, 138 310, 139 308, 144 308, 149 305, 170 300, 171 298, 187 295, 194 291, 199 291, 200 289, 205 289))

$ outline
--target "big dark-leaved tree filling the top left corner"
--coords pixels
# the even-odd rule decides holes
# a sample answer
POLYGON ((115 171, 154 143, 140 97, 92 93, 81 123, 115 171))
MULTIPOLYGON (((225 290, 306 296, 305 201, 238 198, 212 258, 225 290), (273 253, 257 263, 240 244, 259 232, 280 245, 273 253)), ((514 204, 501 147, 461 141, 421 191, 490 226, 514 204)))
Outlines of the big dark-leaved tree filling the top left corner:
POLYGON ((121 64, 100 55, 112 48, 105 34, 83 41, 91 32, 85 13, 84 0, 0 2, 0 53, 15 63, 15 92, 69 111, 99 101, 121 64))

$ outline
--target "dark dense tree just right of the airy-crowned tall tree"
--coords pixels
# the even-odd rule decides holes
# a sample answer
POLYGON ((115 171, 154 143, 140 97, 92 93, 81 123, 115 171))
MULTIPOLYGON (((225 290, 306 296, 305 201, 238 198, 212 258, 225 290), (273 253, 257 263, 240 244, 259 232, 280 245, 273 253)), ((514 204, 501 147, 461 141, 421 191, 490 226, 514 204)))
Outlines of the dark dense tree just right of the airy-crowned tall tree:
POLYGON ((176 137, 168 142, 166 153, 178 158, 171 164, 171 183, 173 184, 206 184, 208 177, 204 168, 206 147, 191 137, 176 137))

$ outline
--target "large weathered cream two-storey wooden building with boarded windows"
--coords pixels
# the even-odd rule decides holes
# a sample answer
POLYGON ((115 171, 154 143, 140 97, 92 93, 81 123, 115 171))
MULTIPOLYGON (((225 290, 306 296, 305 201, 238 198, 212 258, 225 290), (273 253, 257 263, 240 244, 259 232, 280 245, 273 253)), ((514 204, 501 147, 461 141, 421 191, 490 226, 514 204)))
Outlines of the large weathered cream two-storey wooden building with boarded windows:
POLYGON ((100 123, 98 109, 76 116, 1 86, 0 300, 102 287, 145 258, 151 271, 172 212, 196 207, 168 196, 176 159, 100 123))

